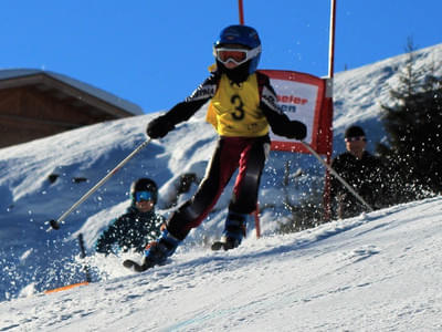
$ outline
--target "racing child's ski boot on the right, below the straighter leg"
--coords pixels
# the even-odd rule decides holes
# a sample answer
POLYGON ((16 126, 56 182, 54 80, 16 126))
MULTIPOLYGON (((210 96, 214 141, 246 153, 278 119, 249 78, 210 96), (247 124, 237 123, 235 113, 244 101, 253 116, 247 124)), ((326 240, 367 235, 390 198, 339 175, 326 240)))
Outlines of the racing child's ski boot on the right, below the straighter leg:
POLYGON ((239 247, 243 237, 245 237, 246 225, 248 215, 230 211, 221 240, 213 242, 212 250, 230 250, 239 247))

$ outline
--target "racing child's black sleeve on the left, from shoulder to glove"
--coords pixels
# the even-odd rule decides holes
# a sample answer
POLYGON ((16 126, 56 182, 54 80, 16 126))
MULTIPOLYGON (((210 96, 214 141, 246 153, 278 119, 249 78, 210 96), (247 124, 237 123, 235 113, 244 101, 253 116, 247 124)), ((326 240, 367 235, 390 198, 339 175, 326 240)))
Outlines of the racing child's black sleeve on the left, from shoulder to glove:
POLYGON ((176 104, 164 116, 173 125, 189 120, 203 104, 214 96, 218 82, 218 74, 210 75, 190 96, 188 96, 183 102, 176 104))

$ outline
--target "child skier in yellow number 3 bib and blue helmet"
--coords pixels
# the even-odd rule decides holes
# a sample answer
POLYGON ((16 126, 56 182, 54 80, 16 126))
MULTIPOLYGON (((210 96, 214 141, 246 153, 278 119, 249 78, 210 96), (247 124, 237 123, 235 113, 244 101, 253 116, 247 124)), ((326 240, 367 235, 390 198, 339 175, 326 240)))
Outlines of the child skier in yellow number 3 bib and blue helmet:
POLYGON ((224 250, 238 247, 246 217, 256 208, 261 174, 270 151, 269 125, 281 136, 306 136, 306 126, 288 120, 276 104, 269 77, 256 71, 261 41, 253 28, 223 29, 213 45, 213 55, 217 68, 211 75, 183 102, 147 126, 151 138, 164 137, 211 100, 207 120, 220 137, 206 176, 194 196, 172 214, 161 236, 147 247, 143 266, 137 268, 126 261, 126 267, 143 271, 164 263, 207 217, 239 168, 221 239, 224 250))

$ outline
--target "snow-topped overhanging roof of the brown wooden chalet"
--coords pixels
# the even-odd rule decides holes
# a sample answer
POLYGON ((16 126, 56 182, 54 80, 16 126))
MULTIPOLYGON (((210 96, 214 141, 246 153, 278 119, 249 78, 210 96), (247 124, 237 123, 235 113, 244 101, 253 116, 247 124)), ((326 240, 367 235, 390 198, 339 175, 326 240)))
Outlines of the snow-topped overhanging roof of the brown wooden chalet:
POLYGON ((90 104, 116 117, 144 114, 134 103, 63 74, 34 69, 0 70, 0 90, 27 85, 61 100, 71 98, 76 104, 90 104))

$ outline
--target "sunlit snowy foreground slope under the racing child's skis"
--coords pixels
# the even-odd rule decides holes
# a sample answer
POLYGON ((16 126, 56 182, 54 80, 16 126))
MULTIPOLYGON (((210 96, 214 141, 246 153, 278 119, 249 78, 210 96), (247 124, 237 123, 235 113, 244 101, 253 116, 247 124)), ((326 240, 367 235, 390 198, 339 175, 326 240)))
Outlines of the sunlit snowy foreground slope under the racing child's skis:
POLYGON ((441 331, 442 197, 0 303, 0 331, 441 331))

